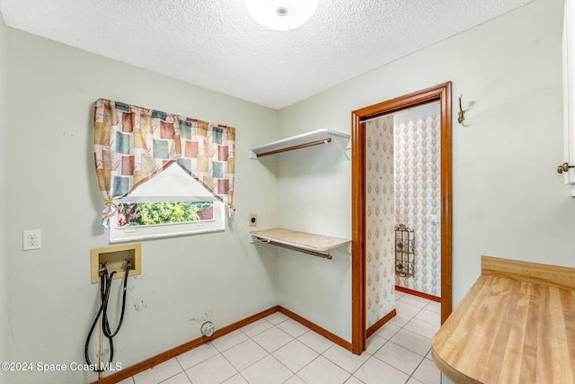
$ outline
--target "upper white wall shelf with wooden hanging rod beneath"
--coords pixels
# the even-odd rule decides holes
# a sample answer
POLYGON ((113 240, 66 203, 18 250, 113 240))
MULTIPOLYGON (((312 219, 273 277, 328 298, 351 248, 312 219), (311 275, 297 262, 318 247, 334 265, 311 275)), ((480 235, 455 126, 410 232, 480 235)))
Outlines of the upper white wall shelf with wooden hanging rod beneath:
MULTIPOLYGON (((329 129, 317 129, 302 135, 284 138, 250 149, 250 158, 282 161, 298 156, 308 156, 326 149, 344 149, 350 136, 329 129)), ((347 155, 346 155, 347 156, 347 155)))

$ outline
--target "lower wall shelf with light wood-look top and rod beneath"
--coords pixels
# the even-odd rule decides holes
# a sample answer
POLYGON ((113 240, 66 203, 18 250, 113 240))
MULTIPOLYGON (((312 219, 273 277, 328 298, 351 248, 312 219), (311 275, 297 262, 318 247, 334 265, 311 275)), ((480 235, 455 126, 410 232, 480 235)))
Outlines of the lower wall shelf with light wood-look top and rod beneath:
POLYGON ((251 232, 252 237, 261 243, 280 246, 326 259, 332 259, 329 251, 346 246, 351 240, 339 237, 327 237, 306 232, 297 232, 284 228, 272 228, 251 232))

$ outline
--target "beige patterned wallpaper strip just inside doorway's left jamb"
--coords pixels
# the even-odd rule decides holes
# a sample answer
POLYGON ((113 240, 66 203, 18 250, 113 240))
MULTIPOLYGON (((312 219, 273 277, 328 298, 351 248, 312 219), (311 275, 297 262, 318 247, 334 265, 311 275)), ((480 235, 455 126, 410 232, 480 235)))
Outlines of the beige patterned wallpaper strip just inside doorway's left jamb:
POLYGON ((395 308, 394 118, 366 123, 366 326, 395 308))

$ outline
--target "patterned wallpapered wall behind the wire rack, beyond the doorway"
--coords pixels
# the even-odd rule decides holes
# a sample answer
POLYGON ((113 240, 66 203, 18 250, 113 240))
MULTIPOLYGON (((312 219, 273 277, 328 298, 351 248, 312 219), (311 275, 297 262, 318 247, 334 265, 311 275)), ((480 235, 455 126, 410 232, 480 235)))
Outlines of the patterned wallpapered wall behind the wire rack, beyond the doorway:
POLYGON ((441 296, 440 122, 435 113, 394 122, 395 219, 415 230, 414 276, 395 280, 433 296, 441 296))

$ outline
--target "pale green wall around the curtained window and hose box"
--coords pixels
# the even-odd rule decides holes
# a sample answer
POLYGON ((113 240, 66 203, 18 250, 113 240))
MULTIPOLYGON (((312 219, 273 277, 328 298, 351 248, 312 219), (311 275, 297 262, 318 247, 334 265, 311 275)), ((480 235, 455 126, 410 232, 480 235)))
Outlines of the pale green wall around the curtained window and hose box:
MULTIPOLYGON (((2 61, 0 66, 5 72, 2 61)), ((0 208, 9 219, 10 360, 84 362, 84 340, 98 302, 98 285, 90 283, 90 250, 108 245, 93 170, 97 98, 235 127, 239 219, 247 227, 249 213, 256 212, 262 226, 275 224, 275 169, 250 160, 248 148, 275 138, 277 112, 13 29, 8 29, 8 77, 10 145, 2 145, 11 166, 0 208), (34 228, 42 230, 42 248, 23 252, 22 230, 34 228)), ((4 132, 5 123, 0 124, 4 132)), ((221 328, 275 306, 277 254, 257 252, 248 239, 233 222, 224 233, 142 242, 142 274, 128 281, 115 362, 128 367, 196 339, 206 319, 221 328)), ((119 281, 112 289, 119 292, 119 281)), ((97 375, 34 371, 9 379, 86 383, 97 375)))

